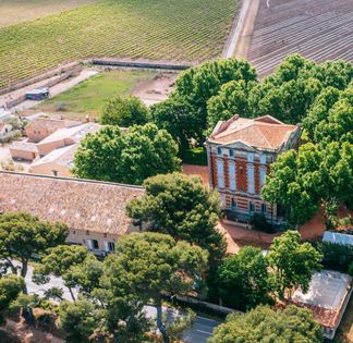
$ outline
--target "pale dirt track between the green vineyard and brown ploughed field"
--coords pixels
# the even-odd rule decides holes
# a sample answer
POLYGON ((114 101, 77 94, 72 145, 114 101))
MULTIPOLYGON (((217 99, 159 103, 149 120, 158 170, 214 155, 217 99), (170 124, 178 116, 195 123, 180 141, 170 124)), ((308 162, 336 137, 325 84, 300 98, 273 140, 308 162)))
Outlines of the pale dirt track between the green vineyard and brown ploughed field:
POLYGON ((243 0, 239 15, 234 17, 223 58, 245 58, 260 0, 243 0))

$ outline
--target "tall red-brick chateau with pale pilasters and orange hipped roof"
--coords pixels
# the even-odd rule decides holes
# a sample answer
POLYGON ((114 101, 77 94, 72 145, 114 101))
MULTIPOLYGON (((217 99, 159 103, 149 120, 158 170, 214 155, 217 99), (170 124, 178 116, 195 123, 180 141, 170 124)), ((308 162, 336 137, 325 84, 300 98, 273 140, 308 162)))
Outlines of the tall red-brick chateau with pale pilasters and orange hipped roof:
POLYGON ((218 122, 206 140, 209 183, 220 193, 228 218, 246 223, 257 212, 271 223, 280 221, 276 204, 261 198, 261 188, 271 163, 278 155, 296 148, 300 136, 300 126, 270 115, 234 115, 218 122))

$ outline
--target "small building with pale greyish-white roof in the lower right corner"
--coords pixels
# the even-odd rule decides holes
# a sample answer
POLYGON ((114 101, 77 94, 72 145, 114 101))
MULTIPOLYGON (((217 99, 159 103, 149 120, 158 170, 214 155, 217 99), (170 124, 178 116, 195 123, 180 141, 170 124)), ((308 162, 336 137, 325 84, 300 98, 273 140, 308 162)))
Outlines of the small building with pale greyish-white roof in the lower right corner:
POLYGON ((292 303, 313 310, 324 328, 324 336, 332 340, 352 294, 352 278, 337 271, 322 270, 313 274, 309 290, 296 290, 292 303))

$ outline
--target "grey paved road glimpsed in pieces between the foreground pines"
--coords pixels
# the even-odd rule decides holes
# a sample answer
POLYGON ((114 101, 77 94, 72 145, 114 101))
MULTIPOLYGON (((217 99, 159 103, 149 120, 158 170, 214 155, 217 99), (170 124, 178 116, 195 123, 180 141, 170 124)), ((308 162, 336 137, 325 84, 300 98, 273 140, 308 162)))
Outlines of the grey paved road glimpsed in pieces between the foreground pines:
MULTIPOLYGON (((16 266, 20 266, 20 264, 15 262, 16 266)), ((68 287, 65 287, 63 285, 63 281, 61 278, 50 278, 50 283, 44 284, 44 285, 38 285, 36 283, 34 283, 32 281, 32 274, 33 274, 33 267, 28 266, 28 272, 26 275, 26 284, 27 284, 27 290, 29 294, 38 294, 38 295, 44 295, 44 292, 46 290, 49 290, 50 287, 61 287, 64 292, 63 294, 63 298, 66 301, 72 301, 70 292, 68 290, 68 287)), ((77 292, 74 291, 74 294, 76 295, 77 292)), ((175 310, 171 310, 171 309, 167 309, 165 308, 165 310, 168 311, 167 314, 167 318, 173 318, 178 311, 175 310)), ((156 317, 156 308, 153 306, 146 306, 145 307, 145 311, 147 314, 147 316, 149 316, 150 318, 156 317)), ((185 331, 185 333, 183 334, 183 340, 186 343, 206 343, 207 339, 211 335, 212 330, 215 327, 217 327, 218 324, 220 324, 221 321, 216 321, 212 319, 208 319, 208 318, 204 318, 204 317, 196 317, 196 322, 194 323, 194 326, 188 329, 187 331, 185 331)))

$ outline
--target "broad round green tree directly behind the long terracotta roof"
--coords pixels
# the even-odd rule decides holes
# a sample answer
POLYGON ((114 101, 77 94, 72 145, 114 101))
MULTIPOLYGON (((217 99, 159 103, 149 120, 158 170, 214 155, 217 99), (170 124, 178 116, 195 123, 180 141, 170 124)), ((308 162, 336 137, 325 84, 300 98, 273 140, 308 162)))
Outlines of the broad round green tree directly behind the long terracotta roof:
POLYGON ((178 146, 165 130, 154 124, 132 126, 122 134, 106 126, 87 135, 74 158, 78 177, 142 184, 149 176, 180 169, 178 146))

